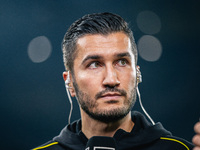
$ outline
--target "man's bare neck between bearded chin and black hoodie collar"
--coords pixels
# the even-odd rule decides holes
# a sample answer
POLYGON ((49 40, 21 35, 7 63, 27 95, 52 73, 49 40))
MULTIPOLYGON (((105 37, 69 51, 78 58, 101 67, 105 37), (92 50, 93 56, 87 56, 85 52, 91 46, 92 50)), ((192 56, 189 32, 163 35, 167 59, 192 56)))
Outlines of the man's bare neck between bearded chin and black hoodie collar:
POLYGON ((113 137, 118 129, 123 129, 126 132, 131 132, 134 126, 134 123, 131 119, 131 112, 129 112, 123 119, 111 123, 104 123, 94 120, 85 112, 83 112, 83 110, 81 110, 81 118, 81 130, 88 139, 90 139, 92 136, 113 137))

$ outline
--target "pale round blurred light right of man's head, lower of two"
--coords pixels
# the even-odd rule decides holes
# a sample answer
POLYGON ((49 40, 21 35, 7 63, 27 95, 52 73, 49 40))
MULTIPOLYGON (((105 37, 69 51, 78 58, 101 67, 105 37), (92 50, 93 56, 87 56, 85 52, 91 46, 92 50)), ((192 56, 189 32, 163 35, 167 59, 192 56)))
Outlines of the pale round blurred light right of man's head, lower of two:
POLYGON ((154 36, 144 35, 138 41, 138 52, 146 61, 157 61, 162 54, 162 45, 154 36))

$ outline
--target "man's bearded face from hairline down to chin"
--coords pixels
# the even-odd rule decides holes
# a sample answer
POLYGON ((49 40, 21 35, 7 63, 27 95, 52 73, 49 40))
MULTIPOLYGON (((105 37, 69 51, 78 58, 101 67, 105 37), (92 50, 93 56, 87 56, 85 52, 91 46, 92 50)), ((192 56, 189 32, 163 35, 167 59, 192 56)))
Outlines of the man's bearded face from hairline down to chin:
POLYGON ((85 35, 77 41, 74 95, 81 109, 102 122, 126 116, 136 99, 135 60, 128 36, 85 35))

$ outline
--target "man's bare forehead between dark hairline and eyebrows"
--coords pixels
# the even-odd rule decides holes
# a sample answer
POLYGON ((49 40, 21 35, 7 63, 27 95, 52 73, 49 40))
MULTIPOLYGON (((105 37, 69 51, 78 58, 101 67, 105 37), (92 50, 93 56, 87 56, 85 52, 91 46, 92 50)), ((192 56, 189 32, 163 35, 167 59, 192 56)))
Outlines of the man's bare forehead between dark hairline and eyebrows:
POLYGON ((125 33, 116 32, 108 35, 88 34, 77 41, 76 59, 84 59, 84 57, 90 54, 109 56, 124 52, 133 55, 130 39, 125 33))

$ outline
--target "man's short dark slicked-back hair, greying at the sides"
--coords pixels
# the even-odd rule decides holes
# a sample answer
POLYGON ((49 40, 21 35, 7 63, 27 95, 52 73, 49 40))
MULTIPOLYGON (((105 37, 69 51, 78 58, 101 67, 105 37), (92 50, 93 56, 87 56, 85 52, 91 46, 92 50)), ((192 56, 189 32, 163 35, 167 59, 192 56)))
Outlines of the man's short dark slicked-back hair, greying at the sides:
POLYGON ((116 14, 105 12, 85 15, 69 27, 62 42, 65 69, 74 72, 73 66, 77 54, 76 43, 80 37, 86 34, 108 35, 114 32, 124 32, 130 38, 137 64, 137 48, 128 23, 116 14))

